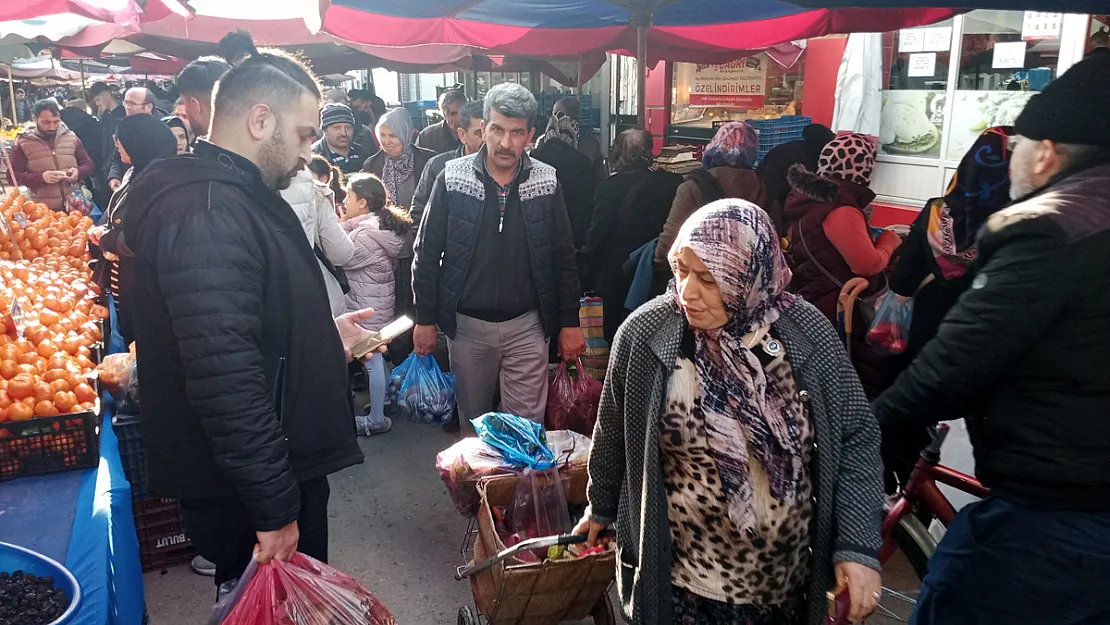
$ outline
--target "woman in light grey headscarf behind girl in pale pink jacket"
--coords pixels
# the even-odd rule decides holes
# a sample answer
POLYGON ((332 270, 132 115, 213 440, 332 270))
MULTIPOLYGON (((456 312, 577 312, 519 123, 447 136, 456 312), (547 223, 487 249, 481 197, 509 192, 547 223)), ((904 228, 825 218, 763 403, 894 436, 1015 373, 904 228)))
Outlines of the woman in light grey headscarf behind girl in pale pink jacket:
MULTIPOLYGON (((413 206, 413 195, 424 165, 435 157, 435 152, 413 145, 413 119, 405 109, 392 109, 377 120, 375 127, 377 142, 382 147, 376 154, 366 159, 362 171, 376 175, 385 183, 390 205, 410 211, 413 224, 420 224, 424 206, 413 206)), ((397 255, 396 306, 397 316, 413 315, 413 243, 416 228, 405 236, 405 244, 397 255)), ((390 344, 394 363, 412 351, 412 339, 401 337, 390 344)))

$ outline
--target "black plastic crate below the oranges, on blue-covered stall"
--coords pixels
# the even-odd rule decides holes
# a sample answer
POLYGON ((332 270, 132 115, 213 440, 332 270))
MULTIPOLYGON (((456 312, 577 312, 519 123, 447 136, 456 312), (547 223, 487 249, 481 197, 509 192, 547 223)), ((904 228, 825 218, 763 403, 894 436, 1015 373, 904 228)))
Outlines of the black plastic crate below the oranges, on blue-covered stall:
POLYGON ((0 481, 100 464, 99 412, 0 423, 0 481))

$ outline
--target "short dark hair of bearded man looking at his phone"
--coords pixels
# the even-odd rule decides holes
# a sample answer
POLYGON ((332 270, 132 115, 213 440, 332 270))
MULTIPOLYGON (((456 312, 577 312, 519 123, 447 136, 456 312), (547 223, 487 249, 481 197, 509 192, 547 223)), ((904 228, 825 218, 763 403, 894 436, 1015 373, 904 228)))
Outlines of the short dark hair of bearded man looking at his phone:
POLYGON ((320 83, 302 60, 280 50, 260 52, 250 37, 245 43, 241 39, 238 41, 249 44, 249 49, 242 60, 216 82, 214 114, 226 114, 258 102, 266 102, 280 114, 305 94, 320 100, 320 83))

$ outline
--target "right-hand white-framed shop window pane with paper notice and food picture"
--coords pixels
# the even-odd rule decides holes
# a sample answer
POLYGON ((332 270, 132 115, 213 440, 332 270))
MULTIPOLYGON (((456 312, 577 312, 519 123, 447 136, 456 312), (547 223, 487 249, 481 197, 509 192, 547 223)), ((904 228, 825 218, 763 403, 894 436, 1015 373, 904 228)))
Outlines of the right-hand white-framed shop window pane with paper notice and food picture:
POLYGON ((983 130, 1012 125, 1056 78, 1062 23, 1061 13, 1035 11, 965 16, 948 160, 961 159, 983 130))

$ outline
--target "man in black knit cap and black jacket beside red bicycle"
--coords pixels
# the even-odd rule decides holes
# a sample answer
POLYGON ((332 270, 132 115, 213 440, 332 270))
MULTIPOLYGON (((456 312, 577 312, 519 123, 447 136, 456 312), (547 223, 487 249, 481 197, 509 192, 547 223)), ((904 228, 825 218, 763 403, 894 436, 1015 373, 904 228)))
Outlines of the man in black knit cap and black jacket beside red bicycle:
POLYGON ((1110 622, 1110 56, 1035 95, 1016 202, 979 233, 971 288, 875 402, 888 433, 963 416, 991 496, 929 561, 919 625, 1110 622))

